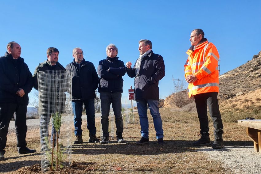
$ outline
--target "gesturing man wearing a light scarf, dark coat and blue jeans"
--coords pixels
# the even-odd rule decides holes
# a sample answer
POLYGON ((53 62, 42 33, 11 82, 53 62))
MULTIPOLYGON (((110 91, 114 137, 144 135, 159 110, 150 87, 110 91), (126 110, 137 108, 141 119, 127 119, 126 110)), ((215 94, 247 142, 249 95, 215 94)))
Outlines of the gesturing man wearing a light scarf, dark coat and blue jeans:
POLYGON ((137 144, 149 143, 149 122, 147 116, 147 105, 149 105, 158 144, 165 145, 162 119, 158 108, 158 81, 165 76, 165 65, 162 56, 154 54, 151 49, 152 43, 150 40, 140 40, 138 49, 140 56, 133 68, 131 68, 131 62, 126 63, 126 71, 129 77, 135 77, 134 100, 137 101, 141 126, 141 139, 137 144))

